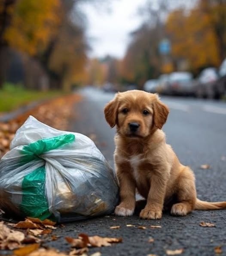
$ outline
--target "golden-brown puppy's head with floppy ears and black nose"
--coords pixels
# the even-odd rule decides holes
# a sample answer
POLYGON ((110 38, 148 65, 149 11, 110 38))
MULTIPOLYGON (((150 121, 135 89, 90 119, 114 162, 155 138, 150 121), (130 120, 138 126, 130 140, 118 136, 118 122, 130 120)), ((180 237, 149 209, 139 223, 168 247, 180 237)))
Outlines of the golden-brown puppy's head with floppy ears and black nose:
POLYGON ((120 135, 131 138, 144 138, 153 129, 161 129, 168 113, 157 94, 138 90, 117 93, 104 108, 110 127, 116 125, 120 135))

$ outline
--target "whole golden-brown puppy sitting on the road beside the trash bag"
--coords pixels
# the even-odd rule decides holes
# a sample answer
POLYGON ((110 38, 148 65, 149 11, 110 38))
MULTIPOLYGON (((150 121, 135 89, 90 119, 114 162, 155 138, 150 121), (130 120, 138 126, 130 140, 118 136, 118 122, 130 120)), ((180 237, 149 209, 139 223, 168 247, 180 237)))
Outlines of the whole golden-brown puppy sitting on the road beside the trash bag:
POLYGON ((157 94, 137 90, 117 93, 105 106, 105 119, 117 130, 114 160, 121 203, 116 215, 134 213, 136 189, 147 199, 142 219, 160 219, 163 206, 170 206, 172 215, 226 208, 226 202, 196 198, 192 170, 179 162, 161 130, 168 113, 157 94))

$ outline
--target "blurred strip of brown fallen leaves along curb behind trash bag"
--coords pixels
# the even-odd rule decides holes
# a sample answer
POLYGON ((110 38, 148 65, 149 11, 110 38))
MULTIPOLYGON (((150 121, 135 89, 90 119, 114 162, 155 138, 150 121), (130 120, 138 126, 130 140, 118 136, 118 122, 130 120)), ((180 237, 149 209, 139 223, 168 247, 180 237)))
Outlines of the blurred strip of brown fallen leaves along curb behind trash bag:
POLYGON ((81 100, 81 96, 78 94, 58 97, 34 107, 7 123, 0 122, 0 158, 9 150, 9 144, 15 132, 28 116, 34 116, 46 125, 65 131, 71 115, 75 115, 73 105, 79 100, 81 100))

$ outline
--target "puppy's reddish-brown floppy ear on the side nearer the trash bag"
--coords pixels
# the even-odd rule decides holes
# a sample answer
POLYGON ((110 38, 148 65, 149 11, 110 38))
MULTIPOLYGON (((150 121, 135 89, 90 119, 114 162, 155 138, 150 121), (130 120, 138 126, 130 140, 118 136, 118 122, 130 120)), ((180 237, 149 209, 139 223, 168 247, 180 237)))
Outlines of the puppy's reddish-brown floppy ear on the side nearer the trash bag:
POLYGON ((118 99, 117 95, 113 100, 111 100, 104 108, 104 115, 107 123, 110 125, 111 128, 113 128, 116 125, 117 120, 117 110, 118 110, 118 99))

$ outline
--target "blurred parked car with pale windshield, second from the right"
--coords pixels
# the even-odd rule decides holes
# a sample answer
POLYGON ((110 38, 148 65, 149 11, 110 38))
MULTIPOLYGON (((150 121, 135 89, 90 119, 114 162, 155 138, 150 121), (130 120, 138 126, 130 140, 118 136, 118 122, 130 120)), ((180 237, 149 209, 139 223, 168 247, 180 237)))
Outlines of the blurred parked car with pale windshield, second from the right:
POLYGON ((193 83, 195 96, 198 98, 215 98, 217 79, 218 73, 216 68, 203 69, 198 79, 193 83))

